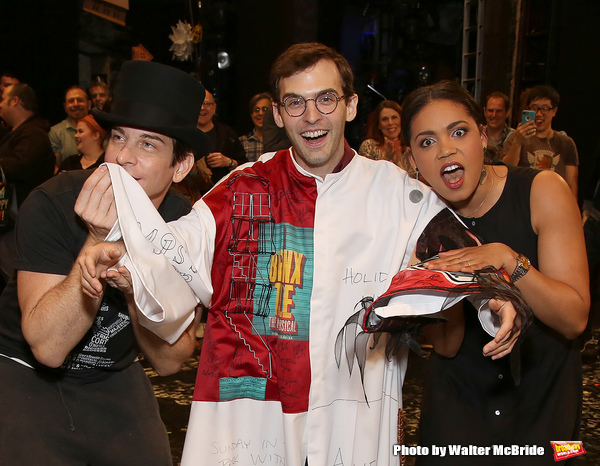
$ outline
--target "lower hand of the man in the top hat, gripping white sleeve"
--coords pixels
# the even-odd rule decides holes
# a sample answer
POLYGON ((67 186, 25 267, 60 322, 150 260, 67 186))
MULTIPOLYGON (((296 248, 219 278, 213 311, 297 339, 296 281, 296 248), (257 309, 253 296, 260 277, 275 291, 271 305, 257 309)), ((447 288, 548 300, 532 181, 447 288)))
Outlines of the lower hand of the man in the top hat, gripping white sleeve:
POLYGON ((81 286, 83 292, 91 298, 99 298, 102 295, 104 286, 100 279, 107 279, 111 286, 121 289, 121 291, 131 288, 129 271, 126 277, 120 269, 108 271, 115 265, 121 256, 125 253, 125 245, 122 242, 117 243, 98 243, 90 246, 83 251, 77 258, 77 263, 81 269, 81 286))

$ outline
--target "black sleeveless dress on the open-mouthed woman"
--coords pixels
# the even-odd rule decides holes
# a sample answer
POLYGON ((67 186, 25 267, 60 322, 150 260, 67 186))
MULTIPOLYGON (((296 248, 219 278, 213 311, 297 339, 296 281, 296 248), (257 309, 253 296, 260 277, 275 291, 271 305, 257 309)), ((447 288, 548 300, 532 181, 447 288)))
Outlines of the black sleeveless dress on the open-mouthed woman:
MULTIPOLYGON (((500 242, 537 268, 537 235, 531 227, 530 191, 539 172, 508 167, 496 205, 480 218, 462 218, 486 243, 500 242)), ((556 247, 561 247, 557 244, 556 247)), ((543 456, 419 456, 417 465, 554 465, 551 440, 577 440, 582 406, 582 368, 577 341, 534 319, 521 346, 521 383, 509 358, 482 355, 491 340, 465 301, 465 337, 454 358, 433 354, 419 426, 419 445, 503 445, 544 448, 543 456)), ((431 448, 430 448, 431 450, 431 448)))

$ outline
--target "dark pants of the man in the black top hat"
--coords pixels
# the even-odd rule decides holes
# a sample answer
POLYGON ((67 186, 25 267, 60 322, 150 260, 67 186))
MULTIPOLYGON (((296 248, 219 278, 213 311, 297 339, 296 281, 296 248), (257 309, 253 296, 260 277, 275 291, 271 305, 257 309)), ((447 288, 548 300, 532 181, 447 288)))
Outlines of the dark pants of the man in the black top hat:
POLYGON ((0 465, 172 465, 139 363, 77 385, 0 356, 0 465))

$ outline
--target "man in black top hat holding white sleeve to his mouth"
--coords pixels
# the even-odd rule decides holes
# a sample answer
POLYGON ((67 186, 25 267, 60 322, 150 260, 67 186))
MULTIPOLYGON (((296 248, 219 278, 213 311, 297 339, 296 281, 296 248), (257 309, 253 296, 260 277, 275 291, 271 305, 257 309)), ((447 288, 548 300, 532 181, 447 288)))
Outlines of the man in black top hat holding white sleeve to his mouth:
MULTIPOLYGON (((165 220, 190 210, 169 186, 204 155, 203 99, 188 74, 129 62, 111 112, 94 112, 111 131, 106 162, 130 173, 165 220)), ((0 297, 0 464, 172 464, 137 357, 143 352, 159 374, 177 371, 172 355, 192 354, 194 324, 173 344, 141 327, 127 277, 94 298, 83 294, 77 257, 104 239, 74 212, 91 173, 49 180, 19 212, 18 277, 0 297)))

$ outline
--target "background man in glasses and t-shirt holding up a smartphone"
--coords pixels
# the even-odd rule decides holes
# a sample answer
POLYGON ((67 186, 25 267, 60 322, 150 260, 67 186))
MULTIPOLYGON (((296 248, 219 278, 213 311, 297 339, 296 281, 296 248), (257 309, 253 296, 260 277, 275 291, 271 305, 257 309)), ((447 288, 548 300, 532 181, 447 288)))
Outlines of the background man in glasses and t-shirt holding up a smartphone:
POLYGON ((502 160, 507 165, 555 171, 565 179, 577 198, 577 146, 563 131, 552 128, 559 100, 560 95, 552 86, 535 86, 529 91, 529 110, 523 111, 521 123, 504 143, 508 152, 502 160))

